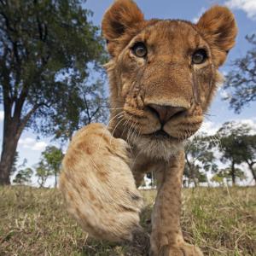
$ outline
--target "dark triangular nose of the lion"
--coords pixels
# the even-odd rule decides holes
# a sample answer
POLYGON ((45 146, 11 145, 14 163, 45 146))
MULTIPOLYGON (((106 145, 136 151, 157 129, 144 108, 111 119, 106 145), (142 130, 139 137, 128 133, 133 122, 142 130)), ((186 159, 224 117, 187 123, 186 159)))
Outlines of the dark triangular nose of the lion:
POLYGON ((162 125, 172 119, 175 114, 182 113, 186 110, 183 107, 161 106, 157 104, 148 104, 148 108, 154 113, 157 113, 162 125))

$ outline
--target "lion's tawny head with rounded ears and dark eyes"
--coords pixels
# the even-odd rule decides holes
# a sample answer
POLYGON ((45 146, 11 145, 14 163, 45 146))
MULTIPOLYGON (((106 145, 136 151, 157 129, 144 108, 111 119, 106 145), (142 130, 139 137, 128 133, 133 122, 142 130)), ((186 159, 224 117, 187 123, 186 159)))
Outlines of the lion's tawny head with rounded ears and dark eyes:
POLYGON ((214 6, 196 24, 144 20, 136 3, 117 0, 102 32, 111 55, 114 134, 147 154, 168 157, 201 126, 221 80, 218 67, 235 44, 234 15, 214 6))

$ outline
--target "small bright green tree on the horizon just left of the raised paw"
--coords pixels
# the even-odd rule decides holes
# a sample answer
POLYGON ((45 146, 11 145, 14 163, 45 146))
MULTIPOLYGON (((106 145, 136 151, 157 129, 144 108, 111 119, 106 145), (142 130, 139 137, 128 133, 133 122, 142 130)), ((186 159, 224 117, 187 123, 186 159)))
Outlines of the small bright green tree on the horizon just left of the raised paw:
POLYGON ((41 172, 41 179, 43 175, 54 175, 55 176, 55 188, 57 186, 57 177, 61 170, 61 161, 64 157, 60 148, 56 148, 55 146, 48 146, 45 148, 44 152, 42 153, 42 159, 39 167, 38 172, 41 172), (42 170, 42 168, 44 168, 42 170), (43 175, 42 175, 43 174, 43 175))

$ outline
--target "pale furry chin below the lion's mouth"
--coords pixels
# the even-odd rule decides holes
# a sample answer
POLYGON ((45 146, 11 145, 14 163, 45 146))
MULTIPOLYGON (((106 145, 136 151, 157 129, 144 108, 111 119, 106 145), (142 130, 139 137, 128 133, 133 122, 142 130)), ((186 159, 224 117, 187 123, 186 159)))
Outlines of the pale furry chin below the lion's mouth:
POLYGON ((139 154, 165 161, 169 161, 172 156, 183 149, 182 142, 164 133, 136 136, 131 139, 131 144, 136 146, 139 154))

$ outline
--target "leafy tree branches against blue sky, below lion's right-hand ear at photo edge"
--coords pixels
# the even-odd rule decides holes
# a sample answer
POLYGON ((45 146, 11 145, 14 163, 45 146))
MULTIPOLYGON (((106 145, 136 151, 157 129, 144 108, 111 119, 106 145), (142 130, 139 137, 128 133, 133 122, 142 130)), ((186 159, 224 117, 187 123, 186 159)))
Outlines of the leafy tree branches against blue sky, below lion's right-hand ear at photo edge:
POLYGON ((226 76, 224 85, 224 89, 228 90, 228 96, 224 100, 230 102, 230 107, 236 113, 256 100, 256 34, 246 38, 253 44, 253 48, 244 57, 233 62, 232 71, 226 76))

